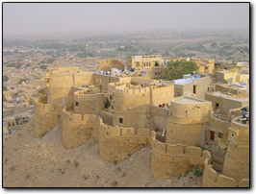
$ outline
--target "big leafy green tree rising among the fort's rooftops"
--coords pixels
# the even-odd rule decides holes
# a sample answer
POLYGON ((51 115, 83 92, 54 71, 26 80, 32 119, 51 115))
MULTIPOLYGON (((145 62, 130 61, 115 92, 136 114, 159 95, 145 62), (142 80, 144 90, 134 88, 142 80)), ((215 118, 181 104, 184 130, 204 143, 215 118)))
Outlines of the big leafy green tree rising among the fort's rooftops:
POLYGON ((191 74, 192 71, 197 71, 198 66, 194 61, 169 61, 167 62, 165 76, 166 80, 181 79, 185 74, 191 74))

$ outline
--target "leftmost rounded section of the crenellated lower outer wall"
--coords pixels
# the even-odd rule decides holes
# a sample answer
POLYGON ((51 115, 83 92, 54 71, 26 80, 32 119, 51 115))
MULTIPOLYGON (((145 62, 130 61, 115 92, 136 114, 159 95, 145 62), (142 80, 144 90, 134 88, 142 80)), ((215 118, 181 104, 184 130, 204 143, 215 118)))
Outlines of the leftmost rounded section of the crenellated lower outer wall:
POLYGON ((41 104, 39 101, 37 99, 35 102, 35 127, 36 136, 42 137, 45 133, 53 130, 57 124, 61 125, 64 106, 41 104))

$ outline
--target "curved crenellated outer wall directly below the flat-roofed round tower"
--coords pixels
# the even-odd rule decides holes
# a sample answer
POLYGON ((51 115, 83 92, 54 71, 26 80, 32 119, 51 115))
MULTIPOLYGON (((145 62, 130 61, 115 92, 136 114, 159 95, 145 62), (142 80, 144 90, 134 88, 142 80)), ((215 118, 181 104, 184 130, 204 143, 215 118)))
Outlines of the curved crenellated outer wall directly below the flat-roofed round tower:
POLYGON ((177 178, 187 170, 192 170, 192 165, 200 164, 204 167, 206 158, 212 158, 207 150, 202 151, 201 148, 194 146, 163 143, 152 135, 151 170, 156 179, 177 178))

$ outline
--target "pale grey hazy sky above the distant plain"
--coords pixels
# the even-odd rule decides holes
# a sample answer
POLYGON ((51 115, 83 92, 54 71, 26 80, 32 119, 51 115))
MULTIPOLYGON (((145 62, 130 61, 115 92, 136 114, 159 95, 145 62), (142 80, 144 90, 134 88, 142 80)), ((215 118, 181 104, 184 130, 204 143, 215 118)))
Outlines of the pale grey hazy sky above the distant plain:
POLYGON ((91 31, 248 30, 248 3, 4 3, 4 36, 91 31))

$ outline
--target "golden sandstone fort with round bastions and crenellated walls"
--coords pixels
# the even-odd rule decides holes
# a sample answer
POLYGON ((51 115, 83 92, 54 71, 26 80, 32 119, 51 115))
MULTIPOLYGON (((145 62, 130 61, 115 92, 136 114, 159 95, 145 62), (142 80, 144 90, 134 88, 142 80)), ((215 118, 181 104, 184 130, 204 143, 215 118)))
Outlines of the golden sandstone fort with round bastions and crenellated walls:
MULTIPOLYGON (((130 67, 147 64, 141 60, 145 58, 130 59, 130 67)), ((153 65, 161 62, 161 58, 154 59, 153 65)), ((249 125, 240 123, 238 116, 241 106, 248 104, 239 104, 237 109, 222 106, 227 114, 223 120, 215 116, 218 111, 213 102, 203 97, 206 92, 211 96, 208 84, 202 88, 202 97, 184 96, 184 92, 174 98, 175 82, 84 72, 77 67, 48 68, 45 83, 35 102, 38 137, 60 126, 65 149, 94 138, 99 142, 100 158, 109 162, 124 160, 141 145, 151 145, 151 170, 156 179, 175 178, 200 164, 203 186, 249 186, 249 125), (212 132, 218 132, 214 133, 218 138, 213 139, 212 132), (221 174, 212 165, 216 156, 199 147, 205 142, 227 145, 221 174), (237 162, 238 156, 242 159, 237 162)))

